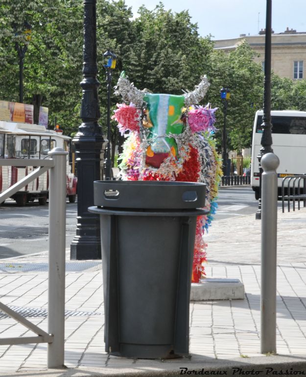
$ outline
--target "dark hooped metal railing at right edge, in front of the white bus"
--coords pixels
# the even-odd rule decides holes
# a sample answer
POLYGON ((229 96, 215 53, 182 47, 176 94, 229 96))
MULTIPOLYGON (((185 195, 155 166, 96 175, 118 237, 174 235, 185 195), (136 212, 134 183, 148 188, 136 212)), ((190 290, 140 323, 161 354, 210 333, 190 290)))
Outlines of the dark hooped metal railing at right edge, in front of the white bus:
POLYGON ((290 203, 292 203, 292 210, 295 211, 295 202, 297 201, 299 210, 301 200, 303 200, 303 207, 306 207, 306 175, 284 177, 282 179, 282 212, 284 212, 285 201, 287 201, 288 212, 290 212, 290 203), (301 186, 302 180, 303 186, 301 186))

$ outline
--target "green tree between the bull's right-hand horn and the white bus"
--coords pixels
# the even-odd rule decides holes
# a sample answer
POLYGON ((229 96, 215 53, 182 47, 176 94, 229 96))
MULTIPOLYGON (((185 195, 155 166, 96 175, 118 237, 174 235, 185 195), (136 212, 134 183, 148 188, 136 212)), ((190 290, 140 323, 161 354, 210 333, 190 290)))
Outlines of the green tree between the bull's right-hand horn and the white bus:
MULTIPOLYGON (((223 126, 223 105, 220 99, 222 86, 228 87, 231 97, 227 109, 227 145, 240 152, 251 146, 251 136, 256 110, 262 108, 263 73, 254 61, 254 51, 243 43, 230 54, 212 53, 212 69, 209 74, 211 87, 209 98, 218 104, 217 127, 223 126)), ((217 133, 220 147, 221 135, 217 133)))

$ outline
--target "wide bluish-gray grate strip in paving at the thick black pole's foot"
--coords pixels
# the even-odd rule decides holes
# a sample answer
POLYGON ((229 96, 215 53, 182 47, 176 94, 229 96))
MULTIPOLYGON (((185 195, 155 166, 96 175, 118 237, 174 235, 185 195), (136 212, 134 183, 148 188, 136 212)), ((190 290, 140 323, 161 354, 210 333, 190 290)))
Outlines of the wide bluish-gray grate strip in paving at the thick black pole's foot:
MULTIPOLYGON (((66 272, 80 272, 92 268, 99 269, 102 267, 101 261, 91 262, 67 262, 66 272)), ((0 263, 0 271, 2 272, 29 272, 29 271, 41 271, 45 272, 48 270, 48 263, 16 263, 16 262, 6 262, 0 263)))

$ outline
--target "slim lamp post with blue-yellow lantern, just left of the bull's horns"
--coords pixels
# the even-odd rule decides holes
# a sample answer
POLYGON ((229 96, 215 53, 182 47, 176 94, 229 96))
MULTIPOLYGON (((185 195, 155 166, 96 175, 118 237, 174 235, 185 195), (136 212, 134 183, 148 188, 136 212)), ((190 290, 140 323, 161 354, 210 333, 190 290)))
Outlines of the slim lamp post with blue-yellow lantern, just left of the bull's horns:
POLYGON ((110 50, 104 54, 107 58, 107 64, 104 65, 106 70, 107 82, 107 145, 106 158, 104 160, 105 179, 110 180, 112 177, 112 159, 111 159, 111 84, 112 84, 112 70, 116 68, 117 56, 110 50))

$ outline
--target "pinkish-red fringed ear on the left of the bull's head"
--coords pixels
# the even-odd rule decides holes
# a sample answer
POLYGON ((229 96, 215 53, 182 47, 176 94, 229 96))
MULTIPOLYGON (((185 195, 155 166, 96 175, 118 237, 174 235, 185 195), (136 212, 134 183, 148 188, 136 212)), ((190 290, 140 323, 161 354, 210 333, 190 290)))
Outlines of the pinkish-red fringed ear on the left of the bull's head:
POLYGON ((123 135, 127 130, 139 132, 140 110, 133 105, 117 104, 117 107, 112 119, 117 120, 120 134, 123 135))

